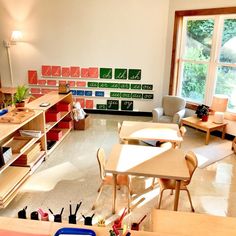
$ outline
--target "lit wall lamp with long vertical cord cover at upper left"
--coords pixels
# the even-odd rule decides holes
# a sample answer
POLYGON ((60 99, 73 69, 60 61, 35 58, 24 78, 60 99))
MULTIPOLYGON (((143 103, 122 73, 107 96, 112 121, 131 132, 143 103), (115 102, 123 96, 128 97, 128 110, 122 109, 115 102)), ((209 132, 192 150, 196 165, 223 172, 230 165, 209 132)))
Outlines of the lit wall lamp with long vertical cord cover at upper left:
POLYGON ((13 81, 13 73, 12 73, 12 64, 11 64, 11 53, 10 53, 10 47, 11 45, 16 45, 17 42, 22 41, 22 32, 21 31, 12 31, 11 39, 10 41, 3 40, 3 46, 7 50, 7 58, 9 63, 9 71, 10 71, 10 79, 11 79, 11 86, 13 87, 14 81, 13 81))

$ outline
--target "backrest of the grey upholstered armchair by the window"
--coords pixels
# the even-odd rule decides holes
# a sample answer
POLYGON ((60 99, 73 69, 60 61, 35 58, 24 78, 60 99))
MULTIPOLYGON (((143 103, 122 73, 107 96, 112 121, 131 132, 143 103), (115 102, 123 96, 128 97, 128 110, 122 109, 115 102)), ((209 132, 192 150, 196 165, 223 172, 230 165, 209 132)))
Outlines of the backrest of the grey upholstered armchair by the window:
POLYGON ((162 98, 164 115, 173 116, 176 112, 185 108, 186 101, 178 96, 165 95, 162 98))

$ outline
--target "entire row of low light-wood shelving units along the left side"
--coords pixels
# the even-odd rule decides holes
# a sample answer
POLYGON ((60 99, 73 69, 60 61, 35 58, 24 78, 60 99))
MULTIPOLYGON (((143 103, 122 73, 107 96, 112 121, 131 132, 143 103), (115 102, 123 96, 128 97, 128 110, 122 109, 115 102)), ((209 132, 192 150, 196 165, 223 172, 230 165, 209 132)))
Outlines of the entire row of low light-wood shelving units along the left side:
POLYGON ((32 109, 34 115, 24 122, 20 124, 0 123, 0 146, 12 145, 13 147, 15 143, 12 140, 17 140, 16 137, 20 136, 19 130, 41 131, 41 135, 38 138, 30 138, 22 147, 20 146, 19 150, 17 149, 18 152, 15 151, 12 154, 10 160, 8 160, 5 165, 0 167, 0 208, 6 207, 12 201, 24 181, 41 165, 46 156, 51 154, 71 131, 71 128, 60 128, 62 131, 61 139, 58 140, 50 150, 47 150, 47 132, 52 128, 58 129, 56 127, 57 124, 70 114, 70 110, 72 109, 72 95, 70 93, 61 95, 58 94, 58 92, 52 92, 46 94, 28 103, 27 108, 32 109), (46 123, 46 112, 59 102, 67 103, 70 109, 68 111, 61 111, 60 119, 57 122, 46 123), (49 103, 49 105, 47 107, 41 107, 40 104, 42 103, 49 103), (37 146, 37 143, 40 144, 40 148, 37 147, 30 153, 30 151, 37 146), (28 157, 29 159, 27 159, 28 157), (20 158, 23 160, 22 164, 20 158), (16 162, 16 165, 14 165, 14 162, 16 162))

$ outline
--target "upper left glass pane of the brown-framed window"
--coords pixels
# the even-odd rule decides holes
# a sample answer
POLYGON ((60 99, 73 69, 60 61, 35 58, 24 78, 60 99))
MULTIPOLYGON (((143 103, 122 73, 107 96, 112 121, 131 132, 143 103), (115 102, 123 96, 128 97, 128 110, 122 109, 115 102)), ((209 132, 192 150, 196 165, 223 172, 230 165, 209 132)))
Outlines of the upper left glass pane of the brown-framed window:
POLYGON ((209 61, 214 20, 188 20, 184 59, 209 61))

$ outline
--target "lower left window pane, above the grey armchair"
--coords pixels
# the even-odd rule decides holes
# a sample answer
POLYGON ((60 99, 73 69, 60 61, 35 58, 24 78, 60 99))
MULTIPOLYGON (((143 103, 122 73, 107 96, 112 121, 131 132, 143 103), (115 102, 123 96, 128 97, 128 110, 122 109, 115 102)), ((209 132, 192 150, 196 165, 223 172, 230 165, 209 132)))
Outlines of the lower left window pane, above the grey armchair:
POLYGON ((181 96, 187 101, 203 103, 208 66, 184 63, 181 96))

